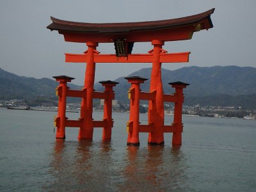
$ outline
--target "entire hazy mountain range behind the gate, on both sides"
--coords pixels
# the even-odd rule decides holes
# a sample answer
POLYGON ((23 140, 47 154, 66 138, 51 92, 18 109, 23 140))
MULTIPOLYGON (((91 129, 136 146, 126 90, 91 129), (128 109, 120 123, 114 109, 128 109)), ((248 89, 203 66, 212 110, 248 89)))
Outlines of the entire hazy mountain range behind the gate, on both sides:
MULTIPOLYGON (((143 68, 129 76, 141 76, 148 81, 141 84, 143 92, 149 91, 151 68, 143 68)), ((127 91, 131 84, 124 77, 115 81, 119 84, 114 87, 116 99, 128 103, 127 91)), ((215 67, 184 67, 177 70, 162 68, 164 93, 173 93, 174 89, 168 84, 173 81, 182 81, 190 85, 184 89, 185 104, 193 105, 220 105, 244 106, 256 109, 256 68, 237 66, 215 67)), ((34 99, 35 97, 52 97, 56 100, 55 88, 58 82, 53 79, 35 79, 21 77, 0 68, 0 100, 34 99)), ((79 90, 81 86, 68 84, 72 89, 79 90)), ((96 83, 95 90, 104 88, 96 83)))

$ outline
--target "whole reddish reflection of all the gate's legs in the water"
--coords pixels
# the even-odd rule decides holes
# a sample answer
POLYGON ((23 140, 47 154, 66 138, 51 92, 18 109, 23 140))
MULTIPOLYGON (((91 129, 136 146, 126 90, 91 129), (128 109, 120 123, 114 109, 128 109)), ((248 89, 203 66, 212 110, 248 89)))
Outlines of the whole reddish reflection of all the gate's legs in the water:
MULTIPOLYGON (((184 189, 182 148, 56 140, 51 153, 52 191, 164 191, 184 189)), ((186 187, 185 187, 186 188, 186 187)))

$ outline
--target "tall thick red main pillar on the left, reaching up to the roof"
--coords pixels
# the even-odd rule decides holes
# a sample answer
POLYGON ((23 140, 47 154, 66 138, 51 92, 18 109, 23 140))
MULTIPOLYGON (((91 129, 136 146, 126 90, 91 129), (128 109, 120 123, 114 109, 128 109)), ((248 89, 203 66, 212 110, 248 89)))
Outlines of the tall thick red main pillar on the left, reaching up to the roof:
POLYGON ((92 140, 93 138, 93 84, 95 79, 94 54, 97 54, 97 43, 87 42, 88 50, 84 52, 88 56, 86 72, 84 77, 84 88, 86 88, 86 97, 81 102, 81 119, 83 123, 79 129, 78 139, 92 140))

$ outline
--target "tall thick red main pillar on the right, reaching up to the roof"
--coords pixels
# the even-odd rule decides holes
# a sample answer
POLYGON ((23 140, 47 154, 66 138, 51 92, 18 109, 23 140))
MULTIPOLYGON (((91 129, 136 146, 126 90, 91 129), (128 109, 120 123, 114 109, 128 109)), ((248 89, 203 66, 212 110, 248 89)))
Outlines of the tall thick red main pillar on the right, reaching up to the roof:
POLYGON ((153 132, 148 134, 148 144, 162 145, 164 143, 164 102, 163 102, 163 84, 161 80, 160 53, 164 42, 152 40, 154 45, 152 72, 150 79, 150 92, 156 91, 156 100, 148 103, 148 124, 153 123, 153 132))

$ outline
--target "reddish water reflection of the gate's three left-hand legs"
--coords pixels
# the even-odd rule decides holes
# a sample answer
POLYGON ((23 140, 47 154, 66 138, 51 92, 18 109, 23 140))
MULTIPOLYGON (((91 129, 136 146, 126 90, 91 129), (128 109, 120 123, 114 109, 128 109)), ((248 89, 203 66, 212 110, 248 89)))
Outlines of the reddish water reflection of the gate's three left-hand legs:
POLYGON ((50 164, 50 173, 54 180, 45 189, 53 191, 109 189, 112 151, 110 142, 56 140, 50 164))

